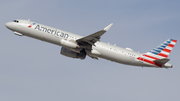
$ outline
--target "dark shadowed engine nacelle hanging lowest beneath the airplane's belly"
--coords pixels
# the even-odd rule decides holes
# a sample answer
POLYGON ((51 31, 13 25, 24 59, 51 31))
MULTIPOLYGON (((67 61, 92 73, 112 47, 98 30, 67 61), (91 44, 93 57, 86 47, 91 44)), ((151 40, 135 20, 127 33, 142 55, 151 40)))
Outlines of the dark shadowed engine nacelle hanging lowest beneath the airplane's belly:
POLYGON ((82 60, 86 58, 86 52, 81 51, 80 53, 76 53, 64 47, 61 48, 61 54, 71 58, 80 58, 82 60))

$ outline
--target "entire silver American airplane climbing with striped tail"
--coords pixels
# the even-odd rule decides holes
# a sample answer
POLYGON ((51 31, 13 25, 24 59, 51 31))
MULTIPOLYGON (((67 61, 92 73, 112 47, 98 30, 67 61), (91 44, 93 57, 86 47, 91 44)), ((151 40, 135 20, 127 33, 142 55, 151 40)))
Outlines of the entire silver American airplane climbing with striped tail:
POLYGON ((17 19, 7 22, 5 26, 18 36, 28 36, 55 45, 62 46, 60 54, 77 59, 88 55, 93 59, 103 58, 125 65, 155 68, 172 68, 168 55, 177 40, 168 39, 161 45, 146 53, 135 52, 130 48, 100 41, 101 36, 109 30, 111 23, 104 29, 88 36, 80 36, 57 28, 52 28, 30 20, 17 19))

